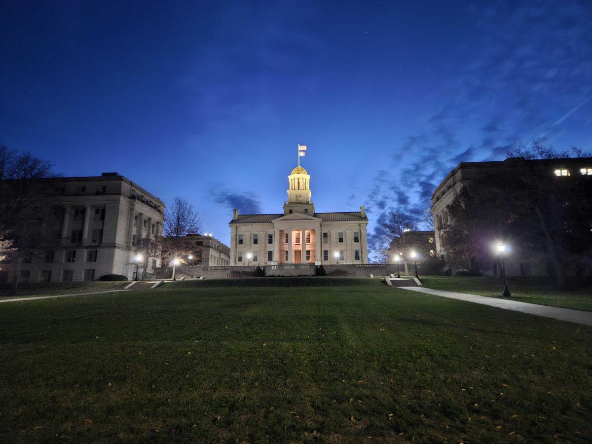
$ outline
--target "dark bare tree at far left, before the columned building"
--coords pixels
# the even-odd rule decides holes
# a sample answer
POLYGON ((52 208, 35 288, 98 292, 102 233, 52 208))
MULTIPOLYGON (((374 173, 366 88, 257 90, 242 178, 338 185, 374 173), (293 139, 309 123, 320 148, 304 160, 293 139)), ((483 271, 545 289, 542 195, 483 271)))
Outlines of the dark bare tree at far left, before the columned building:
POLYGON ((48 160, 0 147, 0 245, 3 256, 15 260, 11 294, 18 289, 21 262, 56 243, 44 233, 49 207, 43 179, 52 177, 48 160))

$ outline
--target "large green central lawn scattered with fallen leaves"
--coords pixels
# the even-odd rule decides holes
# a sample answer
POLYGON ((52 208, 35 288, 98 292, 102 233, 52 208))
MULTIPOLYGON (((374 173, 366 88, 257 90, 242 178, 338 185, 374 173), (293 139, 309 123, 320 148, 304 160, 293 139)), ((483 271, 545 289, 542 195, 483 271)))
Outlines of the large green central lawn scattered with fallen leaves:
POLYGON ((592 328, 267 279, 2 304, 0 442, 590 442, 592 328))

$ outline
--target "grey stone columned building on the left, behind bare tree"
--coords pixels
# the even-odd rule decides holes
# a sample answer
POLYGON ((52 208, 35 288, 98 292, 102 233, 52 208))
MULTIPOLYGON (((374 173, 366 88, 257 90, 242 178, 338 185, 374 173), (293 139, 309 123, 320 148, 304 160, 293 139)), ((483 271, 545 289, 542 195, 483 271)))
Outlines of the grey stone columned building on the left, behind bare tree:
MULTIPOLYGON (((151 274, 160 259, 136 253, 146 239, 162 235, 165 204, 118 173, 101 176, 43 179, 53 190, 46 236, 57 236, 55 247, 21 263, 21 282, 93 281, 117 274, 133 279, 151 274)), ((11 282, 14 264, 0 261, 0 282, 11 282)))

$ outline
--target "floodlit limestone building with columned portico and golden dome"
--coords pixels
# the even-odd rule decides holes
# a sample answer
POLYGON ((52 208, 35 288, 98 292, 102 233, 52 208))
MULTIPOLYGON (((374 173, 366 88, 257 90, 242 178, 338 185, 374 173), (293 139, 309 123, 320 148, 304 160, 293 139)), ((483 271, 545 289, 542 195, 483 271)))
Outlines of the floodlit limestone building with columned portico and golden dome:
POLYGON ((310 175, 297 166, 288 176, 283 214, 239 214, 230 221, 230 265, 368 263, 360 211, 316 213, 310 175))

